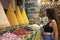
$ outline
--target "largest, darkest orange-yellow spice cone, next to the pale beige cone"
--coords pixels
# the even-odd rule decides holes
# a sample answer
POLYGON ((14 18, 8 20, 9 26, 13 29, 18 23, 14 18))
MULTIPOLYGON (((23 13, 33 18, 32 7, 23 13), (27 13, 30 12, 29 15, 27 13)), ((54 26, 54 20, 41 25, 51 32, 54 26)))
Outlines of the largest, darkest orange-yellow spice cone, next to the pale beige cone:
POLYGON ((11 4, 9 4, 9 6, 8 6, 8 10, 7 10, 6 15, 8 17, 8 20, 9 20, 11 26, 19 25, 18 20, 16 18, 16 15, 14 13, 14 10, 13 10, 13 7, 11 4))

